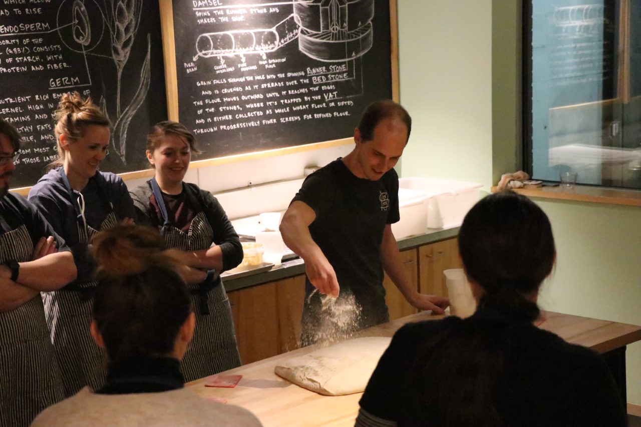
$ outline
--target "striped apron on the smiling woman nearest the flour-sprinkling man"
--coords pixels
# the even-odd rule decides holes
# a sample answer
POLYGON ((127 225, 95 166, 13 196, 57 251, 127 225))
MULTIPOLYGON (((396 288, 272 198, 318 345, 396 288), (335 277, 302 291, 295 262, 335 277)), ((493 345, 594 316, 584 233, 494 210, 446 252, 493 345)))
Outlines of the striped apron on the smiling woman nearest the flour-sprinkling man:
MULTIPOLYGON (((163 215, 164 224, 160 233, 165 238, 167 248, 200 251, 212 246, 213 230, 203 212, 196 214, 187 232, 179 230, 168 219, 156 178, 151 180, 151 188, 163 215)), ((216 278, 213 283, 192 285, 190 291, 196 314, 196 330, 181 362, 185 381, 197 380, 240 366, 231 306, 221 278, 216 278)))

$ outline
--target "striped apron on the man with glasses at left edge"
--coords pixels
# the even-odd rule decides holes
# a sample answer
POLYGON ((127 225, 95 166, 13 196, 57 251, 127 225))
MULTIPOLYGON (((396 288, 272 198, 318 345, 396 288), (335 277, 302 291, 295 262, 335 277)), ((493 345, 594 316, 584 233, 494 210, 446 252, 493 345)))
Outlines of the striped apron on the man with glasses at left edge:
MULTIPOLYGON (((26 262, 32 256, 26 226, 0 236, 0 262, 26 262)), ((0 312, 0 426, 28 426, 44 408, 63 398, 40 295, 0 312)))

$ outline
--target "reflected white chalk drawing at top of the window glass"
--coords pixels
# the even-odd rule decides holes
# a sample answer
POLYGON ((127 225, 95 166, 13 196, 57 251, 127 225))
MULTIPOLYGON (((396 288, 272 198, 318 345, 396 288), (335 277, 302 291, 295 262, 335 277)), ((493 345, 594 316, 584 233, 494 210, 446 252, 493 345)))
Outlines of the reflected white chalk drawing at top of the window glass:
POLYGON ((552 15, 554 26, 562 28, 562 36, 570 38, 595 37, 603 34, 606 23, 603 4, 582 4, 555 8, 552 15))

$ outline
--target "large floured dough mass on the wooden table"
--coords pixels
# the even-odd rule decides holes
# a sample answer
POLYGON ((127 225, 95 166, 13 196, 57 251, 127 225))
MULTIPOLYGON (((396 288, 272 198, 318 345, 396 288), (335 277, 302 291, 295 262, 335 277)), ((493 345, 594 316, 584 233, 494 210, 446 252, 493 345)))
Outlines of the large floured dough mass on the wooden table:
POLYGON ((360 393, 365 390, 390 340, 388 337, 348 340, 285 360, 274 372, 325 396, 360 393))

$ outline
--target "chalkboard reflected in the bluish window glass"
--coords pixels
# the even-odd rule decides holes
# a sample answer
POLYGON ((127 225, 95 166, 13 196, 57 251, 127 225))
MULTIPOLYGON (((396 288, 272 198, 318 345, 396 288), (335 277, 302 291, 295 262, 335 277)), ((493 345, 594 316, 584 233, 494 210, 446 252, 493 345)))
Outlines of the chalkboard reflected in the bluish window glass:
POLYGON ((619 0, 532 1, 532 80, 549 108, 617 97, 618 15, 619 0))

